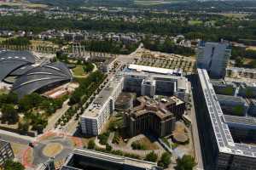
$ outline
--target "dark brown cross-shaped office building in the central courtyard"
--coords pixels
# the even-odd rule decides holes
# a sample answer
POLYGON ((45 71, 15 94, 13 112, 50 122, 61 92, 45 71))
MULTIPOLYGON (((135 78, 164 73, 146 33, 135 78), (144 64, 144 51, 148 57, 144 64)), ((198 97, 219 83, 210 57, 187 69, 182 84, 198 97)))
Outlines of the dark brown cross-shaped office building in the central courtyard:
POLYGON ((175 127, 176 116, 182 116, 185 103, 175 97, 160 99, 141 96, 137 98, 140 105, 125 112, 124 126, 130 136, 140 133, 154 133, 164 137, 172 133, 175 127))

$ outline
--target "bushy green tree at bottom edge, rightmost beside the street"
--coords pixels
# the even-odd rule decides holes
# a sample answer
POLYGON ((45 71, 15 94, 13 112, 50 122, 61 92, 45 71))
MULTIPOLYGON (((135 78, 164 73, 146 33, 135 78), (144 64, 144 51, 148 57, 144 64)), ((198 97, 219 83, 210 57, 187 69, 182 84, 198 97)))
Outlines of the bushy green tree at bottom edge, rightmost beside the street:
POLYGON ((176 170, 193 170, 193 167, 196 166, 195 158, 192 156, 183 156, 181 159, 177 158, 176 170))

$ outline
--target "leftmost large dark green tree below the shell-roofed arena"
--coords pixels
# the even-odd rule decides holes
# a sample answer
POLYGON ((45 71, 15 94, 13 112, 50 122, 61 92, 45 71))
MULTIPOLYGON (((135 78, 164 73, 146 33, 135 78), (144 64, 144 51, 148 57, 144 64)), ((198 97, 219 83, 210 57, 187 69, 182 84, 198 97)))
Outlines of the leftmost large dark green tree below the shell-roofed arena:
POLYGON ((9 123, 16 123, 19 121, 18 111, 15 110, 14 105, 4 104, 1 111, 3 113, 3 121, 7 121, 9 123))

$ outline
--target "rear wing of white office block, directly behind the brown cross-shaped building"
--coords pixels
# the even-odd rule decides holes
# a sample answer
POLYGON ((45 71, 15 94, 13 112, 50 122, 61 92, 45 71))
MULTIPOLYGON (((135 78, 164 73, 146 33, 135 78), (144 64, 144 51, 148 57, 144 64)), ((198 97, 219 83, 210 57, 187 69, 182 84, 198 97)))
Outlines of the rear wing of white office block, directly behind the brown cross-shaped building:
POLYGON ((189 81, 186 77, 155 74, 141 71, 123 71, 124 91, 138 95, 175 95, 184 101, 189 99, 189 81), (146 91, 145 91, 146 90, 146 91))

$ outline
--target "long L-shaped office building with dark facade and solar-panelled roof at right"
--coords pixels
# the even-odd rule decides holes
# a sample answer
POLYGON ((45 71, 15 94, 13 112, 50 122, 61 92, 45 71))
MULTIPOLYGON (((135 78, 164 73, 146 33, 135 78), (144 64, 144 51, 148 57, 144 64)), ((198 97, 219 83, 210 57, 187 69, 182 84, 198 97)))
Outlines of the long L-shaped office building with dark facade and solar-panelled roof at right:
POLYGON ((229 116, 230 119, 224 116, 207 70, 199 68, 197 72, 195 108, 201 122, 201 147, 205 152, 205 169, 256 169, 256 147, 251 144, 236 143, 230 132, 233 128, 232 122, 236 122, 236 125, 241 127, 250 127, 250 123, 240 123, 241 119, 236 119, 237 116, 229 116))

